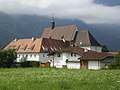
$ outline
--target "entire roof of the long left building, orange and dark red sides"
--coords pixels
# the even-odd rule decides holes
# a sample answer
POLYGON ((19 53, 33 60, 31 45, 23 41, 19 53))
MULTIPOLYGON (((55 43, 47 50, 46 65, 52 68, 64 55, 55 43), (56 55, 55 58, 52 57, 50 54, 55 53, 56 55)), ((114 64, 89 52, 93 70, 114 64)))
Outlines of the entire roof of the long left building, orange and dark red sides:
POLYGON ((5 49, 16 49, 17 53, 48 53, 68 47, 69 42, 62 40, 36 38, 13 40, 5 49))

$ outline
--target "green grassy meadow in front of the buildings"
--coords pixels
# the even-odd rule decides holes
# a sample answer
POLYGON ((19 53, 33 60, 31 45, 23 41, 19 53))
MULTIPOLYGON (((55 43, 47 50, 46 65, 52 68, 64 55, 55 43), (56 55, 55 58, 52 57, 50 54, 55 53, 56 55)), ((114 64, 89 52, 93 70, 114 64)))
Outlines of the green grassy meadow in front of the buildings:
POLYGON ((0 90, 120 90, 120 70, 0 69, 0 90))

